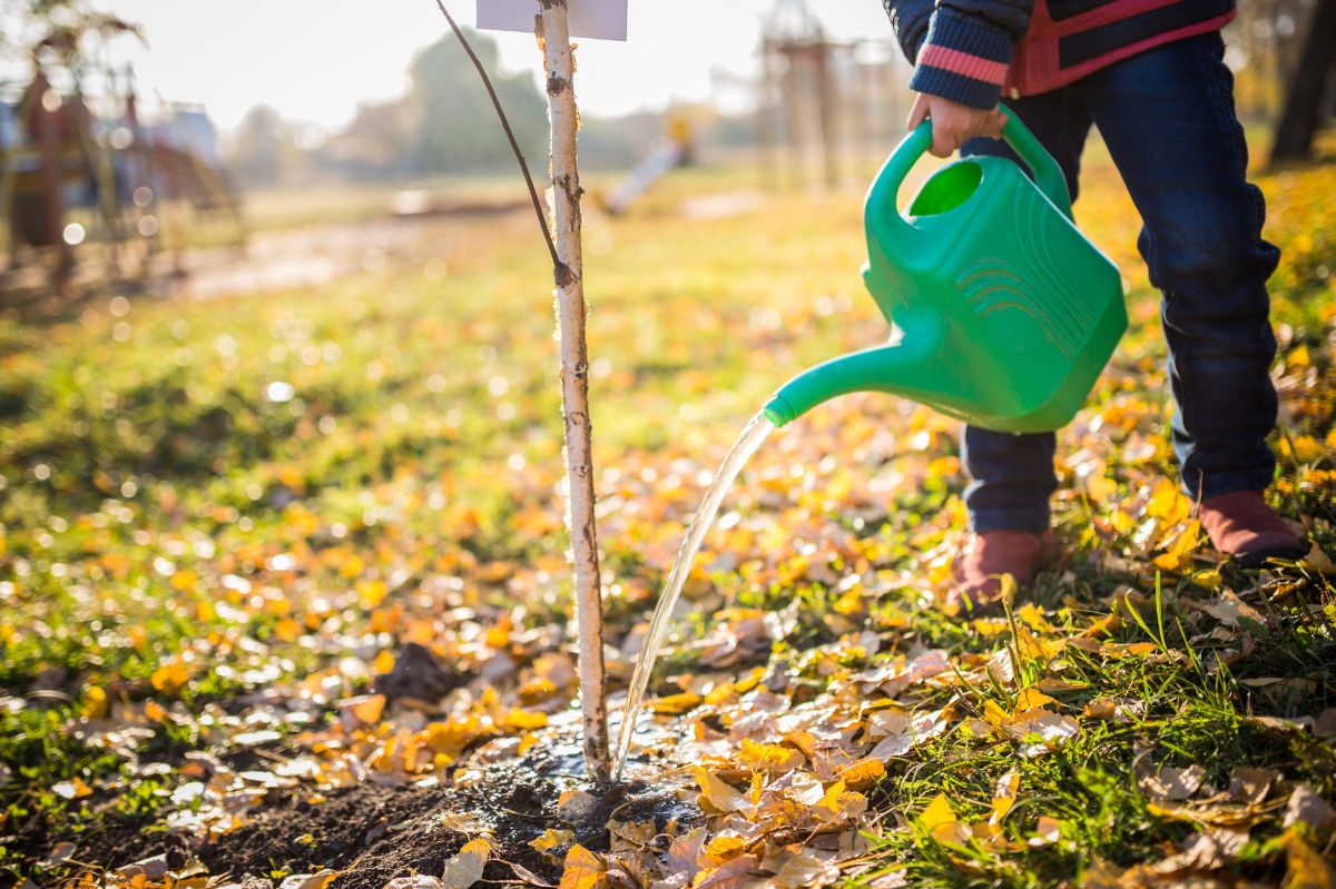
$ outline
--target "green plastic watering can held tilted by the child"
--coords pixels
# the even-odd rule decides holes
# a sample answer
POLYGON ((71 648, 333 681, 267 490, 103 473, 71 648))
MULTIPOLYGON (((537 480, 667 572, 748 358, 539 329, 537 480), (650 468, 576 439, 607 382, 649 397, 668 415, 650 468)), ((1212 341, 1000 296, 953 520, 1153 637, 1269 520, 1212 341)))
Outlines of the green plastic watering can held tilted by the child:
POLYGON ((962 158, 910 203, 896 194, 933 143, 910 133, 867 194, 863 283, 894 334, 887 346, 818 364, 766 406, 783 426, 848 392, 903 395, 1002 432, 1065 426, 1128 327, 1118 270, 1071 223, 1057 162, 1006 108, 1005 158, 962 158))

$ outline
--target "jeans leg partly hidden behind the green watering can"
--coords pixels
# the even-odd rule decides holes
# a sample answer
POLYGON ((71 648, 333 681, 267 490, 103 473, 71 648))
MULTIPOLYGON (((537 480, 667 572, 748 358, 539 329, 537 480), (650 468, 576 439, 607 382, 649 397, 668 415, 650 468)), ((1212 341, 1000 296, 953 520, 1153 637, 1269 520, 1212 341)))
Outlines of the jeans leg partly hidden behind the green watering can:
MULTIPOLYGON (((1007 107, 1061 164, 1075 199, 1081 150, 1090 132, 1085 105, 1058 91, 1009 101, 1007 107)), ((1006 143, 994 139, 973 139, 961 154, 1017 159, 1006 143)), ((971 479, 965 490, 971 530, 1049 530, 1049 498, 1058 487, 1054 449, 1051 432, 1011 435, 966 426, 961 451, 971 479)))

